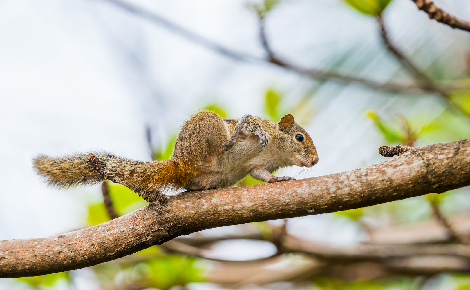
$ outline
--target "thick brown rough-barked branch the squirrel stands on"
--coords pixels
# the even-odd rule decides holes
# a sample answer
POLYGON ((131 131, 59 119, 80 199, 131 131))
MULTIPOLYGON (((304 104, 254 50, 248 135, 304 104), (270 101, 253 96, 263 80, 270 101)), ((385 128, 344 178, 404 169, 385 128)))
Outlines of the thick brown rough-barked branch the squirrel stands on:
POLYGON ((98 226, 0 242, 0 277, 68 271, 211 227, 336 212, 470 185, 470 139, 304 180, 184 192, 98 226))

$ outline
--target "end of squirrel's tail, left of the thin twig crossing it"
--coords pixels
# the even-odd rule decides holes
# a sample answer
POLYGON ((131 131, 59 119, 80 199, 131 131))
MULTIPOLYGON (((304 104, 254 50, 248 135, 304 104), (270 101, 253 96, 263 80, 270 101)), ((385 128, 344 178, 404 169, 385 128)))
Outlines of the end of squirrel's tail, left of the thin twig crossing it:
POLYGON ((93 184, 103 181, 100 173, 88 162, 88 154, 78 153, 63 157, 39 155, 32 160, 39 175, 47 183, 59 188, 93 184))

